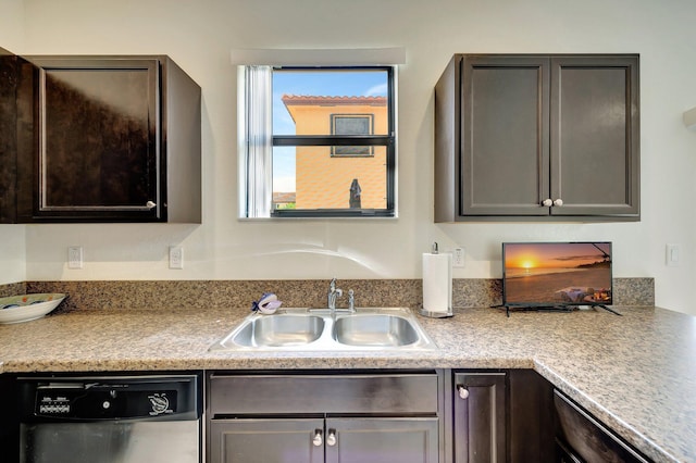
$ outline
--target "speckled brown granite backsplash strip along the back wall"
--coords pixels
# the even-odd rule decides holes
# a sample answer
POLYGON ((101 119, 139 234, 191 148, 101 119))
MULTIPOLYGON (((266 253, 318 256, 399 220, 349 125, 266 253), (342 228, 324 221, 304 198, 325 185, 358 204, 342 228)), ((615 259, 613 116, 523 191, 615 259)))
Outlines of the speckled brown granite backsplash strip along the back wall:
MULTIPOLYGON (((421 279, 339 279, 344 290, 337 306, 347 306, 348 290, 356 306, 419 308, 423 302, 421 279)), ((64 292, 70 297, 61 310, 96 309, 196 309, 250 306, 266 291, 275 292, 285 306, 326 306, 328 280, 132 280, 132 281, 25 281, 0 285, 0 296, 29 292, 64 292)), ((500 303, 500 279, 453 279, 455 309, 500 303)), ((655 305, 654 278, 614 278, 614 305, 655 305)))

